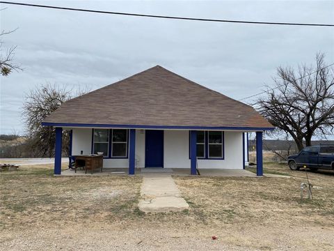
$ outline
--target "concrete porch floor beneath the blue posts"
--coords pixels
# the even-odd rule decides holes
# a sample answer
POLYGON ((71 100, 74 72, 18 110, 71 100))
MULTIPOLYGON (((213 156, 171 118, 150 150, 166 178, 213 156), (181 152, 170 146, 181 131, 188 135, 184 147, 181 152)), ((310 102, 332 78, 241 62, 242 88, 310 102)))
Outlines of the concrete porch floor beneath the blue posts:
MULTIPOLYGON (((212 177, 256 177, 256 174, 247 170, 240 169, 199 169, 200 176, 212 177)), ((159 175, 175 175, 175 176, 191 176, 189 168, 137 168, 136 175, 150 176, 152 174, 159 175)), ((65 169, 59 176, 124 176, 128 175, 127 168, 104 168, 103 172, 99 169, 94 170, 93 174, 89 171, 85 174, 84 170, 65 169)), ((58 175, 57 175, 58 176, 58 175)))

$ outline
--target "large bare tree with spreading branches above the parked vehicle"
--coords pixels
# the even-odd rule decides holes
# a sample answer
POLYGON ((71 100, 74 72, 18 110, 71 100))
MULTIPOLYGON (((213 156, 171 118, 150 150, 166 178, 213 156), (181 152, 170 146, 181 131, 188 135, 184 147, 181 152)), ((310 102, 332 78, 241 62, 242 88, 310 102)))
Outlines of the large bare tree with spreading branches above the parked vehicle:
POLYGON ((324 54, 316 66, 278 68, 275 86, 255 103, 256 109, 273 126, 287 132, 301 151, 303 141, 311 145, 314 135, 334 132, 334 69, 326 66, 324 54))

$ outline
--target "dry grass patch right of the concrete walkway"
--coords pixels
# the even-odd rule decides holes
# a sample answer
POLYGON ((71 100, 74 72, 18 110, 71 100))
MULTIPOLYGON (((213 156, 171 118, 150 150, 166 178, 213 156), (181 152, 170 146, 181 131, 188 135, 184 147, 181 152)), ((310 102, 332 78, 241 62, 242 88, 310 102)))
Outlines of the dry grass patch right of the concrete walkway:
POLYGON ((316 186, 313 200, 300 199, 305 172, 292 178, 175 178, 193 214, 205 224, 257 224, 273 222, 333 226, 334 176, 309 174, 316 186), (331 222, 328 220, 331 219, 331 222))

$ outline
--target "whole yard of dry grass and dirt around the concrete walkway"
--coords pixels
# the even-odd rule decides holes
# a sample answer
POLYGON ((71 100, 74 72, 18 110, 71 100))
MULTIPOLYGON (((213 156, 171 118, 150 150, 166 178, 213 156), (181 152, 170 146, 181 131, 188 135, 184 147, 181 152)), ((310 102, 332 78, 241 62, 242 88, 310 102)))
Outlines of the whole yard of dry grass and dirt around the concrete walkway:
POLYGON ((308 172, 305 201, 305 172, 264 172, 291 178, 174 176, 189 211, 146 215, 140 176, 1 172, 0 250, 333 250, 334 172, 308 172))

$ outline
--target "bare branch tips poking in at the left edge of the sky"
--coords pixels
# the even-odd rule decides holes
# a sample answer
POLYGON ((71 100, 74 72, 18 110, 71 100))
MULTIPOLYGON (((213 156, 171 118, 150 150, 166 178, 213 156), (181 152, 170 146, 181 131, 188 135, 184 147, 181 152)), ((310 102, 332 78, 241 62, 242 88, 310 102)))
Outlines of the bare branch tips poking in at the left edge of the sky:
MULTIPOLYGON (((2 36, 5 36, 9 33, 12 33, 14 31, 16 31, 17 29, 13 30, 13 31, 1 31, 0 32, 0 38, 2 38, 2 36)), ((13 70, 22 70, 22 68, 19 68, 19 66, 17 66, 15 63, 13 63, 13 58, 15 55, 15 49, 16 46, 12 46, 10 47, 6 53, 3 53, 2 50, 3 47, 3 40, 0 39, 0 73, 3 76, 8 76, 13 70)))

